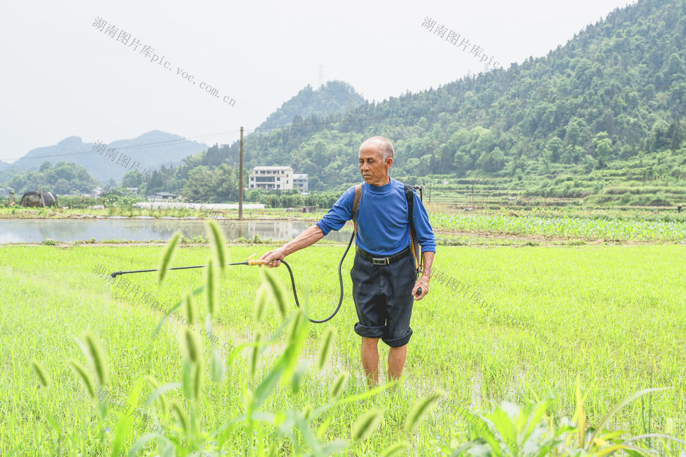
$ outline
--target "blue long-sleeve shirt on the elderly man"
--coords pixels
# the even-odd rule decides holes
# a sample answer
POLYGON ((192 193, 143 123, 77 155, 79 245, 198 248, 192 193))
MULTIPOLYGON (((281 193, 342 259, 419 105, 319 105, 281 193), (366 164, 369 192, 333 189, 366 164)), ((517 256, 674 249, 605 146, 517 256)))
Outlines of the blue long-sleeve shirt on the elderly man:
MULTIPOLYGON (((322 217, 317 226, 324 235, 340 230, 346 221, 353 219, 355 187, 346 190, 333 208, 322 217)), ((377 256, 392 256, 410 245, 407 199, 403 183, 390 178, 383 186, 362 184, 362 195, 357 208, 357 239, 355 243, 363 251, 377 256)), ((422 251, 436 252, 434 232, 422 201, 414 193, 412 221, 422 251)))

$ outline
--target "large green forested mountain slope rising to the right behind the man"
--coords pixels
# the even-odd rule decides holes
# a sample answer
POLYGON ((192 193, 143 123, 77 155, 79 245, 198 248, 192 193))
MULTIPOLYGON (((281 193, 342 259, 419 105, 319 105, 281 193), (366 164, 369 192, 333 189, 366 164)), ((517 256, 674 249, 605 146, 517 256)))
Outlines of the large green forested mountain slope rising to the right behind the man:
MULTIPOLYGON (((333 190, 359 181, 359 144, 378 134, 396 147, 394 175, 413 182, 478 173, 518 193, 599 201, 651 182, 673 190, 658 200, 683 199, 685 49, 686 1, 639 1, 508 71, 250 134, 246 166, 290 165, 333 190)), ((217 156, 235 166, 237 148, 217 156)))

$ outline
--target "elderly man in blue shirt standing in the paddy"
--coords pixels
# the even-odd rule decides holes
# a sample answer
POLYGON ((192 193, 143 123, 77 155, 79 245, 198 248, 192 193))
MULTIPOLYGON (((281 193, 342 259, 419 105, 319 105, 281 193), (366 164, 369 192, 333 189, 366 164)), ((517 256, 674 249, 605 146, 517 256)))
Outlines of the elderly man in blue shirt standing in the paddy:
MULTIPOLYGON (((422 275, 417 280, 405 186, 388 175, 394 156, 393 145, 382 136, 369 138, 359 147, 359 172, 364 183, 355 217, 357 252, 350 275, 358 319, 355 332, 362 336, 362 367, 370 387, 379 384, 379 338, 390 347, 389 377, 398 379, 403 373, 412 336, 412 304, 429 292, 436 252, 426 210, 412 192, 412 221, 423 260, 422 275)), ((355 187, 351 187, 316 225, 283 247, 263 254, 261 259, 269 262, 265 265, 278 267, 285 256, 313 245, 331 230, 340 230, 353 219, 354 200, 355 187)))

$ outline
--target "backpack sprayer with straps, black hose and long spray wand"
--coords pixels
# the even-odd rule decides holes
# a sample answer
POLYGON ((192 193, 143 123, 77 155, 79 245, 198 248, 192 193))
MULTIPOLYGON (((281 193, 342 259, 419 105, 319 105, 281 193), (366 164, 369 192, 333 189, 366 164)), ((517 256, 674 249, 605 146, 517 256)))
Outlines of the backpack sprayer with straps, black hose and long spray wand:
MULTIPOLYGON (((422 186, 409 186, 408 184, 405 184, 405 197, 407 198, 407 208, 408 208, 408 213, 409 213, 409 219, 410 219, 410 236, 412 238, 412 252, 414 254, 415 258, 415 264, 417 267, 417 272, 421 271, 420 265, 421 265, 421 254, 419 253, 419 245, 416 240, 416 232, 414 231, 414 223, 412 223, 412 200, 414 199, 414 188, 418 188, 420 190, 420 195, 423 190, 422 186)), ((348 251, 350 250, 351 245, 353 244, 353 240, 355 239, 355 234, 357 234, 357 208, 359 206, 359 198, 362 194, 362 184, 357 184, 355 186, 355 199, 353 202, 353 234, 350 237, 350 241, 348 241, 348 246, 345 249, 345 252, 343 253, 343 256, 341 257, 340 262, 338 262, 338 284, 340 285, 340 296, 338 297, 338 305, 336 306, 335 310, 327 317, 326 319, 311 319, 311 317, 308 317, 310 322, 313 323, 324 323, 329 320, 331 320, 337 313, 338 310, 340 310, 341 305, 343 304, 343 275, 341 273, 341 269, 343 267, 343 260, 345 260, 345 256, 348 254, 348 251)), ((421 198, 421 197, 420 197, 421 198)), ((253 254, 254 255, 254 254, 253 254)), ((252 256, 250 256, 252 257, 252 256)), ((288 270, 288 274, 291 277, 291 287, 293 289, 293 298, 296 301, 296 306, 300 308, 300 302, 298 301, 298 293, 296 292, 296 280, 293 277, 293 270, 291 269, 291 266, 286 262, 285 260, 280 260, 281 263, 283 263, 286 266, 286 269, 288 270)), ((253 260, 251 258, 246 259, 244 262, 233 262, 233 263, 228 263, 226 264, 227 267, 234 266, 234 265, 247 265, 248 267, 252 267, 255 265, 261 266, 265 264, 265 260, 253 260)), ((170 268, 169 270, 188 270, 188 269, 193 269, 193 268, 206 268, 207 265, 193 265, 191 267, 173 267, 170 268)), ((152 271, 159 271, 158 269, 148 269, 148 270, 131 270, 131 271, 115 271, 114 273, 110 274, 111 277, 115 278, 119 275, 128 275, 132 273, 150 273, 152 271)), ((422 294, 422 288, 417 289, 417 295, 422 294)))

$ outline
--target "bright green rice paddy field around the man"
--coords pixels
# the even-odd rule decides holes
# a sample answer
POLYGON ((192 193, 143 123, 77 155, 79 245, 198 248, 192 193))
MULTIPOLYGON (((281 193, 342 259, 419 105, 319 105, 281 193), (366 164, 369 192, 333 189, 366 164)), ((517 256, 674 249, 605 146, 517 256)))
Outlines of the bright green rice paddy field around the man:
MULTIPOLYGON (((468 223, 461 217, 451 221, 456 228, 468 223)), ((536 220, 514 223, 493 221, 501 224, 504 232, 517 234, 538 234, 536 227, 546 226, 536 220)), ((580 238, 614 239, 629 234, 643 237, 641 240, 667 241, 683 237, 683 228, 677 235, 674 227, 667 225, 593 228, 575 224, 572 221, 556 230, 563 236, 572 230, 580 238), (646 235, 637 235, 640 233, 646 235)), ((155 337, 153 332, 163 317, 160 308, 171 308, 185 292, 202 286, 204 273, 170 271, 161 287, 155 273, 122 276, 128 284, 110 284, 94 273, 155 268, 163 249, 161 245, 0 247, 0 455, 10 456, 13 450, 18 456, 108 454, 119 420, 119 412, 111 404, 126 402, 134 385, 146 376, 159 384, 181 380, 182 351, 176 335, 184 324, 173 316, 155 337), (102 421, 98 402, 86 393, 68 362, 73 358, 86 365, 75 340, 84 331, 99 338, 109 366, 110 382, 104 390, 110 408, 102 421), (51 379, 49 387, 40 384, 32 359, 45 367, 51 379)), ((268 249, 268 245, 231 245, 229 261, 244 260, 255 251, 259 256, 268 249)), ((335 268, 343 249, 339 245, 314 246, 287 259, 296 275, 298 295, 309 302, 315 318, 329 314, 338 301, 335 268)), ((209 252, 206 245, 182 247, 171 266, 204 264, 209 252)), ((667 244, 438 247, 436 273, 451 281, 432 281, 427 298, 415 303, 414 335, 401 385, 336 404, 331 421, 318 422, 314 431, 322 443, 348 441, 347 447, 334 455, 379 456, 399 441, 410 445, 405 455, 442 455, 440 449, 454 449, 469 439, 460 415, 464 408, 486 412, 503 399, 524 404, 552 394, 549 420, 571 419, 578 377, 587 395, 584 410, 589 427, 628 395, 665 386, 667 390, 644 397, 643 403, 637 400, 622 408, 606 428, 633 435, 663 433, 671 418, 674 436, 685 439, 685 254, 686 247, 667 244), (445 393, 440 406, 412 432, 405 432, 406 417, 431 391, 445 393), (369 436, 353 439, 359 438, 357 418, 370 408, 377 408, 383 419, 369 436)), ((309 325, 300 356, 309 368, 300 378, 299 391, 294 393, 289 384, 279 386, 262 404, 265 412, 279 415, 289 408, 316 410, 327 403, 329 390, 341 372, 349 374, 343 397, 366 392, 359 337, 353 332, 357 319, 347 274, 352 260, 353 256, 348 256, 344 264, 346 291, 341 311, 329 323, 309 325), (318 348, 327 329, 335 332, 333 356, 318 371, 318 348)), ((286 297, 293 306, 285 269, 276 269, 276 273, 287 284, 286 297)), ((258 330, 271 334, 283 322, 274 307, 266 310, 263 321, 256 321, 254 303, 260 284, 256 267, 228 267, 222 277, 213 333, 226 347, 250 343, 258 330)), ((206 312, 204 299, 200 294, 197 300, 200 322, 206 312)), ((199 338, 209 360, 209 339, 199 338)), ((206 430, 219 428, 246 413, 246 395, 268 376, 286 345, 283 337, 279 341, 265 351, 254 370, 252 350, 237 350, 222 382, 210 381, 211 367, 206 364, 204 395, 196 408, 191 408, 178 390, 169 391, 169 399, 191 408, 206 430)), ((388 351, 380 347, 383 367, 388 351)), ((226 361, 226 354, 222 357, 226 361)), ((381 371, 385 379, 385 368, 381 371)), ((153 390, 143 383, 141 399, 153 390)), ((156 425, 145 423, 143 415, 152 414, 153 407, 142 400, 138 406, 123 445, 127 451, 139 437, 155 433, 152 428, 156 425)), ((161 422, 164 433, 173 433, 173 422, 161 422)), ((261 455, 254 449, 257 441, 253 436, 265 443, 278 438, 270 425, 251 429, 241 423, 231 429, 222 449, 204 455, 261 455)), ((206 438, 210 449, 217 439, 206 438)), ((296 453, 288 440, 280 446, 277 455, 296 453)), ((680 451, 686 447, 677 445, 676 452, 680 451)), ((150 441, 142 452, 158 455, 160 451, 150 441)))

